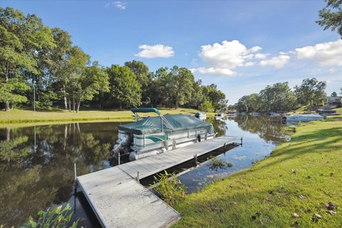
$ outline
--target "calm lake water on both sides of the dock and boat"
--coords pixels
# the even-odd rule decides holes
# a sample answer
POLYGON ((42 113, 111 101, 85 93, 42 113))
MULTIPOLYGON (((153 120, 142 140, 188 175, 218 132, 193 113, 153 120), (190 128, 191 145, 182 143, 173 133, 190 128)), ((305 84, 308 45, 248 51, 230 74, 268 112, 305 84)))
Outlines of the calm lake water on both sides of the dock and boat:
MULTIPOLYGON (((214 169, 209 161, 192 167, 179 179, 187 192, 244 169, 269 155, 286 140, 285 125, 269 117, 237 115, 209 119, 219 135, 243 137, 242 146, 222 153, 212 152, 232 167, 214 169)), ((19 227, 30 215, 56 205, 71 204, 75 219, 86 227, 99 227, 83 195, 74 195, 73 164, 83 175, 117 165, 109 159, 123 123, 68 123, 0 129, 0 224, 19 227)), ((125 157, 123 158, 125 160, 125 157)), ((145 184, 150 184, 145 180, 145 184)))

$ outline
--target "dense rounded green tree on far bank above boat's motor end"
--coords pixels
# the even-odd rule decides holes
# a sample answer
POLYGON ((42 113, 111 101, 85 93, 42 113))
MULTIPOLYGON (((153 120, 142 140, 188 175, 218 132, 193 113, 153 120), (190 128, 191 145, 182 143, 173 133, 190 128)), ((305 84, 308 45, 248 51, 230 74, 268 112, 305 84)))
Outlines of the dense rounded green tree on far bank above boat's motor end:
POLYGON ((141 87, 134 73, 127 66, 112 65, 107 68, 110 82, 110 98, 120 109, 141 104, 141 87))

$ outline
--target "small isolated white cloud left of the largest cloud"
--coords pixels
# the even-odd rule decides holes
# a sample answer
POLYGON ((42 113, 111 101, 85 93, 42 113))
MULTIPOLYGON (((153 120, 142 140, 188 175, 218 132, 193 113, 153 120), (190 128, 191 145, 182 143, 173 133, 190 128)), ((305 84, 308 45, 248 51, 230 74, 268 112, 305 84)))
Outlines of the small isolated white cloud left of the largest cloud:
POLYGON ((173 48, 170 46, 165 46, 162 44, 156 44, 156 45, 140 45, 139 53, 136 53, 135 56, 138 56, 140 58, 169 58, 175 55, 175 51, 173 51, 173 48))

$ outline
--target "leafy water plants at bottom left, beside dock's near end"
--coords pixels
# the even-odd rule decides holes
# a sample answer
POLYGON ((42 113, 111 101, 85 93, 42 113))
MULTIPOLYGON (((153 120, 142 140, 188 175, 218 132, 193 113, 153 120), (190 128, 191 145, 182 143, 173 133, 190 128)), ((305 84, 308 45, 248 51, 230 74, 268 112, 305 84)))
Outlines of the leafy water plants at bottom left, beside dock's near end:
POLYGON ((66 207, 58 206, 53 209, 48 208, 45 212, 38 212, 38 219, 33 219, 33 217, 28 218, 28 222, 24 224, 25 228, 59 228, 59 227, 78 227, 78 220, 73 222, 71 225, 71 217, 73 217, 73 212, 71 212, 71 207, 69 204, 66 207))

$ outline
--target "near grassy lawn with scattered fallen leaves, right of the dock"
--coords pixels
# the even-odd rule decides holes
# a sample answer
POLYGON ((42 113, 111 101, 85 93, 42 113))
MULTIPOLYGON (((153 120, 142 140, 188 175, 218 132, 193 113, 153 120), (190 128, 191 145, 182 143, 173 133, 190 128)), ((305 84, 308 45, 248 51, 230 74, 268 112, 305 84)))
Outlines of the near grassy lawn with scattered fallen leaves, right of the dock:
POLYGON ((175 206, 183 217, 174 227, 342 227, 342 120, 327 119, 301 125, 265 160, 189 195, 175 206))

